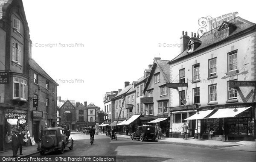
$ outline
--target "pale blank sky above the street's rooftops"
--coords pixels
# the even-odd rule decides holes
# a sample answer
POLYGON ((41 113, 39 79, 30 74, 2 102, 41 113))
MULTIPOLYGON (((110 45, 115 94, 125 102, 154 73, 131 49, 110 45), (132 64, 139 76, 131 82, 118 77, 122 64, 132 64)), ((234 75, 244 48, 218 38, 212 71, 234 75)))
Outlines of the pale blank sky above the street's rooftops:
POLYGON ((256 23, 256 2, 242 2, 23 0, 23 6, 32 58, 59 84, 57 95, 103 109, 106 92, 137 81, 154 57, 180 54, 181 31, 197 33, 201 17, 237 11, 256 23))

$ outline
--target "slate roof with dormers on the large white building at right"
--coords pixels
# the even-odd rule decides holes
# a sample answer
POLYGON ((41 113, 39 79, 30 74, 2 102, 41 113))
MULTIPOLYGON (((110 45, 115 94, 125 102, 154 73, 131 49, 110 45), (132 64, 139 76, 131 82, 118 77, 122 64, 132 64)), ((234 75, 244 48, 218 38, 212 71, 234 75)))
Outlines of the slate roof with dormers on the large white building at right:
POLYGON ((175 57, 174 59, 169 61, 169 63, 176 62, 179 59, 182 59, 183 57, 185 57, 187 55, 192 55, 194 53, 199 53, 199 51, 202 50, 203 48, 207 48, 207 47, 210 47, 211 45, 214 45, 218 42, 225 41, 225 40, 229 39, 230 36, 238 34, 241 31, 244 31, 244 30, 256 25, 252 22, 249 22, 247 20, 242 19, 241 17, 236 17, 233 20, 230 20, 230 22, 228 22, 228 24, 229 23, 232 23, 233 25, 235 25, 236 29, 227 38, 221 39, 220 31, 218 31, 218 29, 219 29, 219 26, 218 26, 217 28, 214 28, 211 31, 208 31, 207 33, 205 33, 203 36, 201 36, 198 39, 202 43, 197 49, 195 49, 191 53, 187 53, 187 51, 185 50, 182 53, 180 53, 177 57, 175 57))

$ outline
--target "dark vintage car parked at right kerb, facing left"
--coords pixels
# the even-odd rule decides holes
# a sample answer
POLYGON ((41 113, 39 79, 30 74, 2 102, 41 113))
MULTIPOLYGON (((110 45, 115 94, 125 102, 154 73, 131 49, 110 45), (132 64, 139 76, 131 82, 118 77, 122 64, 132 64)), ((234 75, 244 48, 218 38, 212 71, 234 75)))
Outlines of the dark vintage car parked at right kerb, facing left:
POLYGON ((156 140, 156 134, 154 133, 154 126, 138 126, 136 132, 131 133, 131 140, 140 139, 140 141, 151 139, 152 141, 156 140))

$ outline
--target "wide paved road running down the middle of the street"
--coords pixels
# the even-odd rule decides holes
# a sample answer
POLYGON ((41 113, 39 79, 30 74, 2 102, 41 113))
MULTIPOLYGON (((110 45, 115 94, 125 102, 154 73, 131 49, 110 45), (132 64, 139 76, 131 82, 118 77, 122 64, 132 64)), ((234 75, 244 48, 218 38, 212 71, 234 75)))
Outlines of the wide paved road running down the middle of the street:
POLYGON ((75 133, 71 137, 75 140, 73 150, 67 148, 63 155, 49 152, 45 156, 116 156, 117 162, 256 162, 255 152, 140 142, 125 138, 111 140, 102 135, 95 135, 94 145, 90 145, 90 135, 75 133))

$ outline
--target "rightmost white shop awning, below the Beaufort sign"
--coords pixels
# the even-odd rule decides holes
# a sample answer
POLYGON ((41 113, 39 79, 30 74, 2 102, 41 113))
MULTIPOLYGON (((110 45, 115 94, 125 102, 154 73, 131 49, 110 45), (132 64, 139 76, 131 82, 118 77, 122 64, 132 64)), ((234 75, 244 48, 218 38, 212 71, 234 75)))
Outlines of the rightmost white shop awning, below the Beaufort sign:
MULTIPOLYGON (((251 107, 251 106, 250 106, 251 107)), ((223 118, 223 117, 235 117, 239 115, 241 112, 249 109, 250 107, 237 107, 236 109, 218 109, 212 116, 208 117, 208 119, 212 118, 223 118)))

